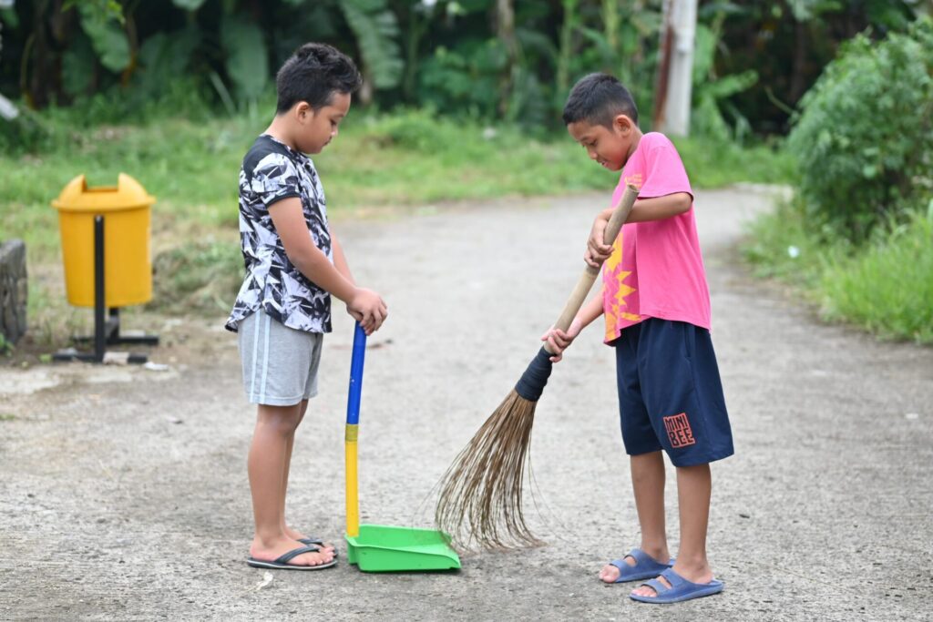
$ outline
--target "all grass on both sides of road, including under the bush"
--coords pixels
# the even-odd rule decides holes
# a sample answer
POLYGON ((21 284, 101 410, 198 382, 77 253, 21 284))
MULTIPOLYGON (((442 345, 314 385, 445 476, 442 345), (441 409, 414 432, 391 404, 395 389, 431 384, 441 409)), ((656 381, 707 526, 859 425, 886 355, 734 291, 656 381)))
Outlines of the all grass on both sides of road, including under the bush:
MULTIPOLYGON (((237 173, 268 119, 199 114, 84 127, 81 118, 80 110, 51 111, 43 147, 0 155, 0 239, 27 244, 33 339, 52 344, 63 334, 88 331, 89 313, 64 303, 58 223, 49 207, 79 173, 91 186, 112 185, 118 173, 130 173, 157 197, 155 295, 148 311, 226 311, 242 270, 237 173)), ((675 144, 694 187, 787 183, 793 175, 791 157, 769 146, 695 138, 675 144)), ((314 162, 331 214, 508 195, 608 193, 618 180, 563 133, 531 134, 411 110, 354 111, 337 142, 314 162)), ((814 230, 801 214, 799 204, 788 203, 752 228, 743 250, 759 276, 793 283, 828 320, 886 339, 933 343, 933 216, 916 216, 856 248, 829 230, 814 230)))

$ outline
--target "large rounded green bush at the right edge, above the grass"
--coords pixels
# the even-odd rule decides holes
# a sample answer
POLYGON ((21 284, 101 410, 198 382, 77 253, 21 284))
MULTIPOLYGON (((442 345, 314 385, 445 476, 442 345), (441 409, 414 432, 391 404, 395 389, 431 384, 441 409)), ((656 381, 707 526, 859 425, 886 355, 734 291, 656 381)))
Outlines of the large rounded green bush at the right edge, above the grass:
POLYGON ((856 242, 933 188, 933 21, 856 36, 801 100, 788 140, 807 211, 856 242))

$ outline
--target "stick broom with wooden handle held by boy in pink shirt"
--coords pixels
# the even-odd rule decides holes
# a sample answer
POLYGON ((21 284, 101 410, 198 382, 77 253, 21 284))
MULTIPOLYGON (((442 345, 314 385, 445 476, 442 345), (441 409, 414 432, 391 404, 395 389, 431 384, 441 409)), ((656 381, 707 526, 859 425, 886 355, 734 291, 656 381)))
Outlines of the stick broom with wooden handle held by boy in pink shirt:
MULTIPOLYGON (((606 244, 616 241, 637 196, 635 187, 625 188, 606 225, 606 244)), ((587 265, 555 328, 565 331, 570 327, 598 275, 598 268, 587 265)), ((535 407, 548 383, 553 354, 547 345, 541 348, 515 389, 457 454, 440 481, 435 522, 462 546, 511 548, 541 544, 525 524, 522 483, 526 465, 529 471, 531 468, 528 445, 535 407)))

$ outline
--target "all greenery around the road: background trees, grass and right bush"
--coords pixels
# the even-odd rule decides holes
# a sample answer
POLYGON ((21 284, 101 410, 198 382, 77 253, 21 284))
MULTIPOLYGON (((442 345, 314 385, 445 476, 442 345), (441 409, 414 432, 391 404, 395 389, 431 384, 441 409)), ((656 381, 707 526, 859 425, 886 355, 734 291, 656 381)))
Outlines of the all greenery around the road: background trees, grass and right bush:
MULTIPOLYGON (((307 40, 350 53, 366 76, 339 140, 314 159, 332 218, 607 196, 616 177, 587 161, 560 110, 578 77, 607 71, 651 129, 664 5, 7 3, 0 239, 27 243, 32 339, 59 345, 88 330, 90 314, 64 301, 49 206, 80 173, 91 186, 129 173, 158 200, 154 298, 129 309, 129 322, 227 311, 242 270, 240 159, 272 114, 274 68, 307 40)), ((756 273, 799 287, 828 320, 926 343, 933 44, 924 12, 913 0, 701 3, 692 137, 675 143, 695 187, 797 188, 750 232, 744 252, 756 273)))

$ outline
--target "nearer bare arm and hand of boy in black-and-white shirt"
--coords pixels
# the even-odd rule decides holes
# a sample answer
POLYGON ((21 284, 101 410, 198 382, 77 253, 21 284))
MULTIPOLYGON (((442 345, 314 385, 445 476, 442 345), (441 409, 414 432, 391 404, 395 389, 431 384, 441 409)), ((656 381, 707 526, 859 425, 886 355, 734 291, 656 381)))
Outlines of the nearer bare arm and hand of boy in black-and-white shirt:
MULTIPOLYGON (((321 249, 314 245, 308 233, 308 225, 304 221, 304 213, 301 211, 301 200, 289 197, 276 201, 269 206, 269 215, 272 216, 272 224, 285 247, 285 255, 295 268, 316 285, 345 302, 347 310, 363 325, 367 334, 378 330, 386 315, 382 297, 369 289, 356 287, 330 263, 321 249)), ((345 259, 343 263, 345 266, 345 259)))

